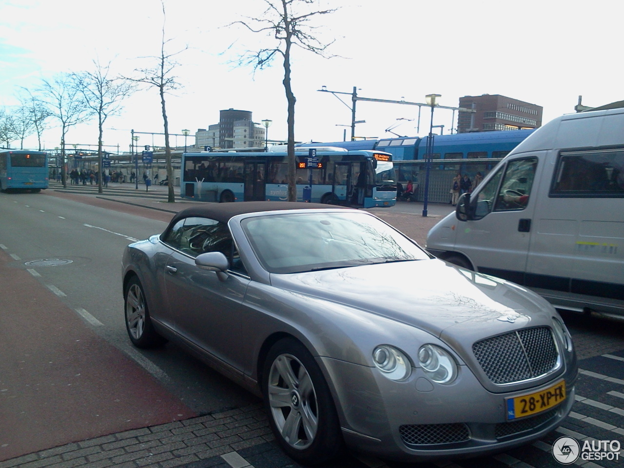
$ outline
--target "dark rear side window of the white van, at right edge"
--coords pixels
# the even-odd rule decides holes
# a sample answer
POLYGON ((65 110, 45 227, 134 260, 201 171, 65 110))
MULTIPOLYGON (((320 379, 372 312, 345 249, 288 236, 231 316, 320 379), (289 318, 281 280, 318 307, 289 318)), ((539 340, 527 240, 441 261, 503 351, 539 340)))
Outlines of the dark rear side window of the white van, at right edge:
POLYGON ((562 152, 551 197, 624 197, 624 150, 562 152))

